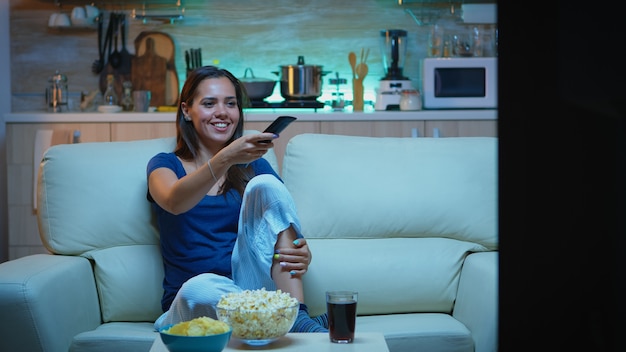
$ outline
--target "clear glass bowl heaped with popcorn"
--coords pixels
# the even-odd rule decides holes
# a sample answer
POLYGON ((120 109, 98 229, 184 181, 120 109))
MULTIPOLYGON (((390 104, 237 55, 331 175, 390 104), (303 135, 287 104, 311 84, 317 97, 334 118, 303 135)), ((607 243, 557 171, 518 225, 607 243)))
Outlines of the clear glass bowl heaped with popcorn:
POLYGON ((263 346, 289 332, 299 306, 296 298, 281 290, 244 290, 223 295, 217 304, 217 317, 232 328, 233 338, 263 346))

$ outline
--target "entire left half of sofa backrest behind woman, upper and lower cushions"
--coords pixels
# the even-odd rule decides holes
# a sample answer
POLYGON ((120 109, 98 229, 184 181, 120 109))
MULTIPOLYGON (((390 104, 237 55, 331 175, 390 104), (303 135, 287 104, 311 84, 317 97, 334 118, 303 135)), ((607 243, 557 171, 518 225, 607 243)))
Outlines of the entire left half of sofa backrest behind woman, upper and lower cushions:
MULTIPOLYGON (((93 261, 105 322, 154 321, 161 313, 163 267, 146 166, 174 146, 173 137, 62 144, 40 164, 41 240, 54 254, 93 261)), ((264 157, 278 169, 273 150, 264 157)))

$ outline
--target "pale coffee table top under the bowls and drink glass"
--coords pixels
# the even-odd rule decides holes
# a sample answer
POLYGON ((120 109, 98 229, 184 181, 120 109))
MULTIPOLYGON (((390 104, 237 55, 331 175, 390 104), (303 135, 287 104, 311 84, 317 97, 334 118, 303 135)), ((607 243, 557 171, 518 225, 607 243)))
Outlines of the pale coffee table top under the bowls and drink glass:
MULTIPOLYGON (((354 342, 347 344, 332 343, 328 333, 289 333, 271 344, 263 347, 248 346, 231 339, 227 351, 285 351, 285 352, 389 352, 385 337, 378 332, 356 333, 354 342)), ((168 352, 157 335, 150 352, 168 352)))

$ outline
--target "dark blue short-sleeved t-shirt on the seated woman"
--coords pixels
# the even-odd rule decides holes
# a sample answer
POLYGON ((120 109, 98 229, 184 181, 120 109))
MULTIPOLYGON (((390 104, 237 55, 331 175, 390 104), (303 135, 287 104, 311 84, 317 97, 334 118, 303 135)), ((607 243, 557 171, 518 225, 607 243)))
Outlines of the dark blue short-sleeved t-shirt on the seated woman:
MULTIPOLYGON (((273 174, 265 159, 250 163, 255 175, 273 174)), ((174 153, 159 153, 148 162, 147 173, 166 167, 182 178, 187 173, 174 153)), ((149 192, 149 190, 148 190, 149 192)), ((226 195, 204 196, 189 211, 174 215, 152 200, 161 236, 165 277, 161 307, 168 310, 176 292, 190 278, 202 273, 232 277, 231 255, 237 239, 241 196, 231 189, 226 195)))

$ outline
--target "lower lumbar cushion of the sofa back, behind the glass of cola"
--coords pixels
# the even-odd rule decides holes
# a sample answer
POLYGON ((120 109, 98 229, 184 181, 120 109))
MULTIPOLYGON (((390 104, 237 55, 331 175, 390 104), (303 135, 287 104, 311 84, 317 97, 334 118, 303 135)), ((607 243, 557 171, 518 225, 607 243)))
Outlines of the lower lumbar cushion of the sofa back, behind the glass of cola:
POLYGON ((326 311, 324 291, 359 292, 359 315, 450 314, 465 257, 485 247, 449 238, 307 239, 303 277, 312 315, 326 311), (331 274, 332 273, 332 274, 331 274))

